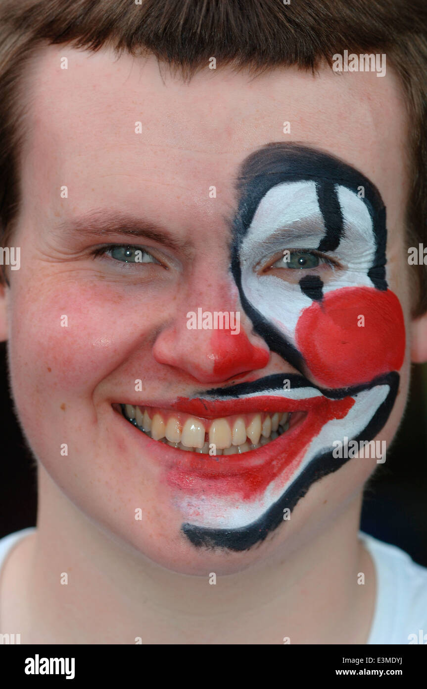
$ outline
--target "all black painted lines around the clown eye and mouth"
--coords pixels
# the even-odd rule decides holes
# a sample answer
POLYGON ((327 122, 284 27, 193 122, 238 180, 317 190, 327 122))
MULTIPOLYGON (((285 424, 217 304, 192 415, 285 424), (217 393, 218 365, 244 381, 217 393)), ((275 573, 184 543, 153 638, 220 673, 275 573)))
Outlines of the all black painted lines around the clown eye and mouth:
MULTIPOLYGON (((285 181, 314 181, 316 183, 318 204, 326 230, 325 237, 320 240, 318 245, 319 251, 335 250, 344 233, 342 211, 337 194, 338 185, 347 187, 355 194, 358 194, 360 187, 364 188, 364 197, 358 198, 361 198, 369 211, 375 240, 374 262, 369 268, 368 276, 373 282, 373 286, 381 291, 386 290, 388 287, 386 282, 386 209, 377 187, 361 172, 336 158, 336 156, 320 150, 314 150, 305 145, 269 143, 248 156, 241 165, 236 184, 239 194, 239 210, 233 223, 233 240, 230 245, 230 270, 239 289, 241 305, 252 321, 254 332, 265 340, 270 350, 278 353, 279 356, 303 374, 304 362, 300 352, 287 341, 283 333, 271 325, 263 314, 252 306, 246 298, 241 285, 241 266, 239 260, 241 243, 248 233, 256 208, 263 196, 272 187, 285 181)), ((314 287, 314 285, 311 286, 314 287)), ((304 289, 304 287, 307 288, 305 284, 301 285, 301 289, 304 289)), ((313 299, 322 298, 322 285, 317 284, 316 289, 312 290, 311 294, 313 299)), ((391 371, 384 376, 375 378, 369 384, 360 385, 353 389, 340 390, 320 389, 310 383, 303 375, 282 373, 267 376, 252 383, 238 384, 223 389, 212 389, 207 391, 203 397, 212 394, 217 397, 233 397, 239 396, 239 394, 248 395, 250 392, 253 394, 255 391, 275 389, 274 386, 276 386, 276 389, 283 389, 283 376, 292 379, 294 387, 314 387, 325 397, 334 399, 344 398, 351 394, 355 395, 362 390, 371 389, 379 384, 389 384, 390 391, 384 402, 380 404, 380 407, 362 433, 357 438, 351 439, 357 442, 360 440, 372 440, 382 430, 388 420, 391 409, 393 409, 399 389, 399 374, 397 371, 391 371), (278 384, 279 378, 281 380, 280 385, 278 384), (267 380, 271 382, 268 387, 266 387, 267 380)), ((268 533, 274 531, 283 522, 284 507, 292 511, 298 500, 307 493, 313 482, 324 475, 337 471, 349 459, 344 458, 343 461, 337 461, 332 456, 332 452, 332 450, 326 451, 318 457, 314 457, 303 473, 283 493, 281 498, 256 522, 237 529, 203 528, 186 523, 182 525, 182 532, 197 547, 221 547, 232 551, 247 550, 257 542, 263 541, 268 533)))

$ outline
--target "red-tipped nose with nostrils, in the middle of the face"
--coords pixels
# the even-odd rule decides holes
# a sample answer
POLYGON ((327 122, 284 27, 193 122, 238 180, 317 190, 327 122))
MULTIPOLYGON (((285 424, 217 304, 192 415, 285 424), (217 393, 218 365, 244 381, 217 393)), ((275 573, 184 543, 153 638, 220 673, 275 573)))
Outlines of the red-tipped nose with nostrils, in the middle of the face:
MULTIPOLYGON (((240 323, 237 329, 188 329, 177 320, 163 329, 153 345, 161 364, 184 371, 201 383, 221 383, 242 373, 264 368, 270 360, 267 345, 250 340, 240 323)), ((230 321, 231 322, 231 321, 230 321)), ((235 322, 235 321, 234 321, 235 322)))

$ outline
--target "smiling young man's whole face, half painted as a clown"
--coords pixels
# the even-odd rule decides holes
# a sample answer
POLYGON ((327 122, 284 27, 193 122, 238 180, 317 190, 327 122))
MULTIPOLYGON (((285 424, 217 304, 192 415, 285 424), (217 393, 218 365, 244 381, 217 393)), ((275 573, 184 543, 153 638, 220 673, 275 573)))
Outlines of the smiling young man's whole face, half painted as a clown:
POLYGON ((384 445, 347 442, 402 416, 404 110, 390 71, 162 72, 64 46, 34 63, 12 389, 90 520, 231 572, 357 509, 384 445))

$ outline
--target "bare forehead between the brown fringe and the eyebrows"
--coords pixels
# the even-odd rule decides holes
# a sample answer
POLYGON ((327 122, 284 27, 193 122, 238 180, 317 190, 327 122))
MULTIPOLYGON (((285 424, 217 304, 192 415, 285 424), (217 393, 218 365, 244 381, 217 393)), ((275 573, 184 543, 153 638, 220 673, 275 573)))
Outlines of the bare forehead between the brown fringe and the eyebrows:
POLYGON ((251 152, 297 141, 360 169, 380 189, 389 219, 402 212, 406 125, 389 69, 379 78, 278 68, 254 79, 206 65, 184 83, 153 56, 118 59, 107 50, 52 46, 27 79, 24 207, 64 214, 126 203, 172 224, 178 207, 199 223, 232 207, 234 178, 251 152), (66 209, 52 194, 62 185, 69 188, 66 209))

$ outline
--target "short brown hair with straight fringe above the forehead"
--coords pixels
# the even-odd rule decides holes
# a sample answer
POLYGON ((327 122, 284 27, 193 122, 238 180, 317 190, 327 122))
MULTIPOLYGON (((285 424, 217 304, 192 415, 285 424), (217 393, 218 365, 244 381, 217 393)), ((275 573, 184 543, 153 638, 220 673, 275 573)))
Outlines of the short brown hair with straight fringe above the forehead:
MULTIPOLYGON (((217 67, 253 74, 313 70, 333 54, 386 52, 402 83, 410 132, 410 245, 427 246, 427 7, 425 0, 0 0, 0 223, 10 238, 19 209, 25 127, 20 83, 43 43, 153 53, 190 79, 217 67)), ((427 310, 427 267, 414 267, 413 316, 427 310)))

